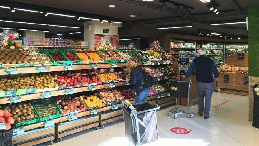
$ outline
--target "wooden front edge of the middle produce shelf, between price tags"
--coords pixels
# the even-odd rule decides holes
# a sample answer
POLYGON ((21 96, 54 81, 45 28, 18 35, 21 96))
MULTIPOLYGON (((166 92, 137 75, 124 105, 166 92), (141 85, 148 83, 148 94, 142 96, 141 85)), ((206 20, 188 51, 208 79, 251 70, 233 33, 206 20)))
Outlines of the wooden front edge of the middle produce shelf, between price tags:
MULTIPOLYGON (((125 86, 125 81, 117 82, 117 83, 115 83, 115 86, 125 86)), ((88 88, 89 87, 73 88, 73 93, 89 91, 88 88)), ((102 85, 96 85, 95 86, 96 90, 97 89, 104 89, 104 88, 109 88, 109 84, 102 84, 102 85)), ((66 89, 57 90, 57 91, 51 91, 51 96, 65 95, 65 91, 66 91, 66 89)), ((41 98, 41 93, 21 95, 21 101, 40 99, 40 98, 41 98)), ((9 97, 0 98, 0 104, 8 104, 8 103, 10 103, 10 98, 9 97)))

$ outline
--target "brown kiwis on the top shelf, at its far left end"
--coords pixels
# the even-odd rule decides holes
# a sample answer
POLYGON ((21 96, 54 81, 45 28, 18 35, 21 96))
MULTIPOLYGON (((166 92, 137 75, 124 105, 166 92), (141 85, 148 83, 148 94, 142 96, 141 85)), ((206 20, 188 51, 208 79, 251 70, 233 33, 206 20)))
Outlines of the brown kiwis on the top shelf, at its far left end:
POLYGON ((0 64, 29 63, 30 57, 24 51, 4 50, 0 51, 0 64))

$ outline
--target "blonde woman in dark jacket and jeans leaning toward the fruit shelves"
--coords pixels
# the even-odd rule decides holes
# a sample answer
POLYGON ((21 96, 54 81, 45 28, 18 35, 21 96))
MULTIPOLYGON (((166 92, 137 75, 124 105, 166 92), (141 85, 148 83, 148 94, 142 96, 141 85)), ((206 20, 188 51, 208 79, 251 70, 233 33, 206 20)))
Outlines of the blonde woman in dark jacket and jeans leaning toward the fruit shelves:
POLYGON ((133 88, 137 94, 135 104, 144 102, 147 98, 147 94, 150 92, 150 87, 146 87, 144 83, 144 70, 134 61, 128 61, 126 63, 128 72, 130 73, 130 79, 126 78, 126 81, 133 85, 133 88))

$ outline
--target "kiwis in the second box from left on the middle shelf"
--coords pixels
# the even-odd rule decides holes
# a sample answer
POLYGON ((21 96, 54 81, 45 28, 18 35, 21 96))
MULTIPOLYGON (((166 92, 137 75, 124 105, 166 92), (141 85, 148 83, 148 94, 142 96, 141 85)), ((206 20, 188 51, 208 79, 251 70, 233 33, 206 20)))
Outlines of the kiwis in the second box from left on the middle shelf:
POLYGON ((29 76, 17 77, 14 79, 14 86, 16 89, 34 88, 34 83, 29 76))

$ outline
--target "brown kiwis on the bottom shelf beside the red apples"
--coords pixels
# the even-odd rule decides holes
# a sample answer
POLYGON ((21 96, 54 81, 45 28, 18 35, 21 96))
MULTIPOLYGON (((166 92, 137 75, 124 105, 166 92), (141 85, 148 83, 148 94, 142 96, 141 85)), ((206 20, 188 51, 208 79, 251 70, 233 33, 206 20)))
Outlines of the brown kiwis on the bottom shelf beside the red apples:
POLYGON ((31 102, 23 102, 19 104, 8 104, 0 107, 3 111, 11 113, 11 117, 16 119, 17 123, 27 122, 37 119, 38 117, 34 113, 31 102))

